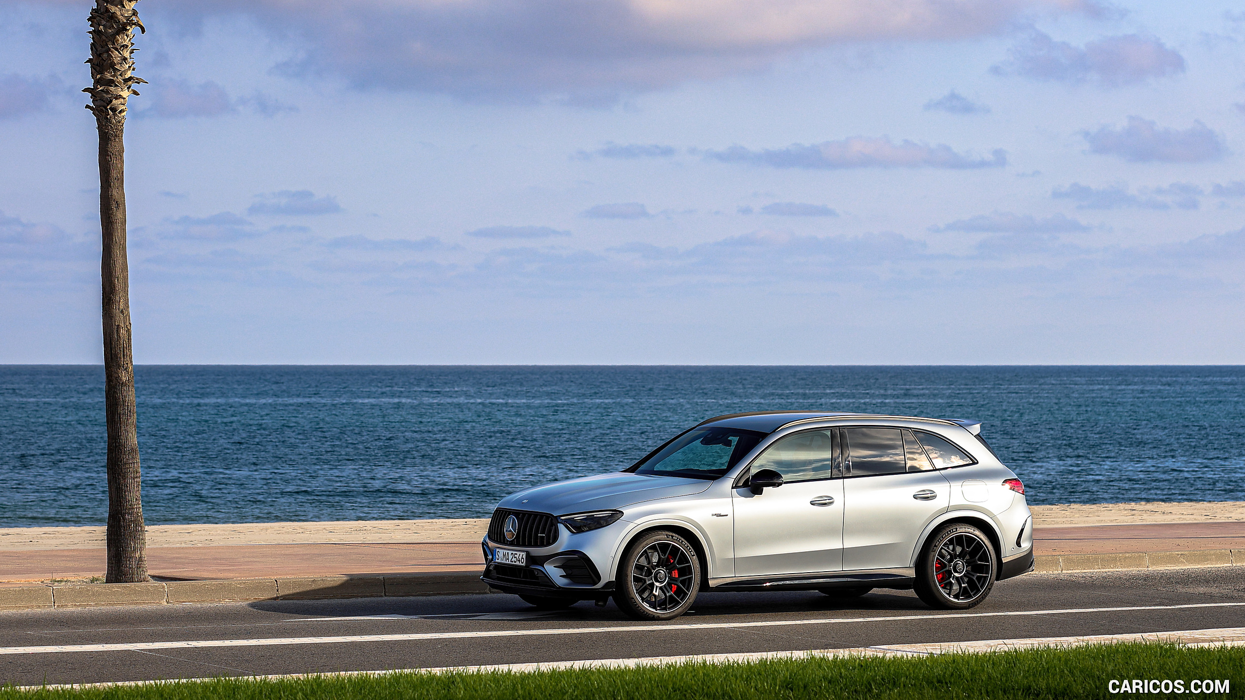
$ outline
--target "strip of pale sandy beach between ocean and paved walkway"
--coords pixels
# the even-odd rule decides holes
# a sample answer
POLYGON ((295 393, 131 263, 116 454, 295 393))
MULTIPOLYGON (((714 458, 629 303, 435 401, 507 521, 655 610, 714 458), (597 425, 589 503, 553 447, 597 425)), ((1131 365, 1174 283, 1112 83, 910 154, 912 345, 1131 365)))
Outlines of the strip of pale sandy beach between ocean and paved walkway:
MULTIPOLYGON (((1036 527, 1245 522, 1245 502, 1032 506, 1036 527)), ((147 528, 148 547, 478 542, 484 518, 316 523, 179 524, 147 528)), ((0 551, 103 548, 103 527, 0 528, 0 551)))

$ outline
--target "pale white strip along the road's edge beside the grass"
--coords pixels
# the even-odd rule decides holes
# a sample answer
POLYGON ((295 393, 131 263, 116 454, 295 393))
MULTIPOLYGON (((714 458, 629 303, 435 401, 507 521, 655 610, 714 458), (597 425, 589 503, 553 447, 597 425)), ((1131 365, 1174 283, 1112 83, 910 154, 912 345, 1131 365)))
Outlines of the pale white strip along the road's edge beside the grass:
MULTIPOLYGON (((1154 631, 1143 634, 1098 634, 1093 636, 1040 636, 1030 639, 990 639, 984 641, 944 641, 937 644, 889 644, 857 646, 853 649, 814 649, 808 651, 759 651, 747 654, 692 654, 687 656, 646 656, 641 659, 585 659, 580 661, 544 661, 537 664, 497 664, 489 666, 441 666, 435 669, 396 669, 391 671, 337 671, 327 674, 286 674, 238 676, 248 680, 294 680, 300 678, 351 678, 387 676, 393 674, 423 673, 535 673, 564 669, 634 669, 639 666, 667 666, 679 664, 748 664, 774 659, 842 659, 847 656, 926 656, 930 654, 984 654, 1012 649, 1038 649, 1051 646, 1081 646, 1084 644, 1119 644, 1129 641, 1165 641, 1184 646, 1245 646, 1245 628, 1190 629, 1184 631, 1154 631)), ((214 681, 219 678, 190 678, 182 680, 123 680, 113 683, 83 683, 66 685, 27 685, 17 690, 82 690, 88 688, 115 688, 128 685, 164 685, 214 681)))

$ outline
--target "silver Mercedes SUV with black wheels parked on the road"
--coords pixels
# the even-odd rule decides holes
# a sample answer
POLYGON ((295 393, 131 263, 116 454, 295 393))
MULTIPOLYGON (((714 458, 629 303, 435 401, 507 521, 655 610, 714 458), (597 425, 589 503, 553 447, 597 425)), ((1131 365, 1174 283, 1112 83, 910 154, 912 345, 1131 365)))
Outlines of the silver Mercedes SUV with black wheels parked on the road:
POLYGON ((980 431, 814 411, 710 419, 621 472, 502 499, 482 579, 538 608, 613 597, 649 620, 701 590, 898 588, 971 608, 1033 568, 1025 486, 980 431))

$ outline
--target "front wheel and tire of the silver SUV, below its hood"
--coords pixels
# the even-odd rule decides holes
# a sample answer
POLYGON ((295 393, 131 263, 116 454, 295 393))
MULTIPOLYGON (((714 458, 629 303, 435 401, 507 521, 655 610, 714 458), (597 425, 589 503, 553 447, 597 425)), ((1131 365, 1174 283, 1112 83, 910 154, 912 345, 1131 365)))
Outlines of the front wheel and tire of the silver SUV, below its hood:
POLYGON ((664 529, 636 538, 619 562, 614 603, 637 620, 672 620, 701 585, 701 562, 685 538, 664 529))

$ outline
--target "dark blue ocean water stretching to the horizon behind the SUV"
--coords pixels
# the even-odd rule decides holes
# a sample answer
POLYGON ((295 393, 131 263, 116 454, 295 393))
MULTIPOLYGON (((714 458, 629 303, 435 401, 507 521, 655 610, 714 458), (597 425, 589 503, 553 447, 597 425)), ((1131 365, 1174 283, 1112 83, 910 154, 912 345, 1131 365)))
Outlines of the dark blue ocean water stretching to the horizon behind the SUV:
MULTIPOLYGON (((484 517, 711 416, 982 421, 1030 503, 1245 499, 1243 366, 136 369, 149 524, 484 517)), ((0 527, 103 524, 103 370, 0 366, 0 527)))

